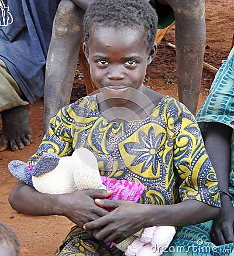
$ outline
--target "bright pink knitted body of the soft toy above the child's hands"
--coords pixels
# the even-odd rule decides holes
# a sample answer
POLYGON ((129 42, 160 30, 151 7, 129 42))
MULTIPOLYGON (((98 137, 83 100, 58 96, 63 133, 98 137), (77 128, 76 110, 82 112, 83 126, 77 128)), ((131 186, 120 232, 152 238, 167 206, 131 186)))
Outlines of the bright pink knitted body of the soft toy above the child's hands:
POLYGON ((102 176, 102 184, 107 190, 113 190, 113 194, 108 197, 111 200, 128 200, 137 202, 142 196, 144 185, 137 182, 129 182, 128 180, 113 180, 102 176))

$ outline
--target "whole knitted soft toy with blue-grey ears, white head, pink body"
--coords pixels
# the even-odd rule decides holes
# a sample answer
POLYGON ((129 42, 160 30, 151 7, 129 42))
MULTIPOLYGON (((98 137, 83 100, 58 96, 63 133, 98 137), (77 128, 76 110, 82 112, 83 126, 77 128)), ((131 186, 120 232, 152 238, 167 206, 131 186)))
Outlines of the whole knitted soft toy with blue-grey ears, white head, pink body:
MULTIPOLYGON (((113 190, 108 199, 137 202, 144 185, 128 180, 113 180, 100 176, 94 154, 86 148, 75 149, 73 155, 59 158, 54 153, 44 153, 35 166, 22 161, 8 165, 13 176, 41 193, 61 194, 84 189, 113 190)), ((144 228, 119 244, 127 256, 161 255, 176 233, 171 226, 144 228), (154 251, 154 248, 160 248, 154 251)), ((112 244, 111 244, 112 245, 112 244)))

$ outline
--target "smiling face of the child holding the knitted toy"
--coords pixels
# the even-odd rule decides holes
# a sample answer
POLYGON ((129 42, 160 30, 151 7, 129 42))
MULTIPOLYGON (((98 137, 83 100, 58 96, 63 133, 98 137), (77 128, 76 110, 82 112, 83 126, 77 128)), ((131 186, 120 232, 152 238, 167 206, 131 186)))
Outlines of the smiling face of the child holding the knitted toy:
POLYGON ((109 101, 129 99, 142 85, 146 67, 156 54, 156 47, 147 53, 144 41, 143 29, 92 30, 84 50, 92 80, 109 101))

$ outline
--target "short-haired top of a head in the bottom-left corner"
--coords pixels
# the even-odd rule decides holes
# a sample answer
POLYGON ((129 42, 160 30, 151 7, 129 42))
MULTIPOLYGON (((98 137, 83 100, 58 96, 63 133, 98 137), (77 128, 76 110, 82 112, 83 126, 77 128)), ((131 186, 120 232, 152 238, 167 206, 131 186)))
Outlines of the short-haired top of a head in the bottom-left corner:
POLYGON ((17 235, 5 223, 0 221, 0 246, 4 243, 12 248, 12 250, 15 252, 15 255, 19 256, 20 245, 17 235))

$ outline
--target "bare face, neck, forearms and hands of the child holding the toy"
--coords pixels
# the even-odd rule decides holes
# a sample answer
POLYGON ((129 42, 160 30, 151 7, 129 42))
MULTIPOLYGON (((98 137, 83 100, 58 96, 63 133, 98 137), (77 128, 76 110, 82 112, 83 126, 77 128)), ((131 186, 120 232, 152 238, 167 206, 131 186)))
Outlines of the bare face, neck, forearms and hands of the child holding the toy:
MULTIPOLYGON (((103 90, 103 93, 98 94, 101 112, 112 105, 130 106, 130 109, 136 107, 130 101, 133 88, 140 95, 154 99, 154 104, 162 97, 142 84, 146 67, 156 54, 156 46, 147 52, 142 40, 143 30, 126 30, 105 27, 94 29, 88 46, 84 46, 91 67, 91 77, 95 85, 103 90), (112 37, 109 37, 110 32, 112 37), (119 100, 116 100, 117 95, 119 100)), ((142 98, 139 97, 140 99, 142 98)), ((139 102, 137 105, 141 104, 139 102)), ((136 112, 144 116, 140 107, 136 112)), ((112 191, 106 190, 82 190, 70 194, 42 194, 33 187, 18 182, 9 195, 9 203, 13 209, 25 214, 66 216, 106 243, 119 243, 144 227, 186 226, 207 221, 219 212, 217 207, 191 199, 166 206, 121 200, 100 201, 111 193, 112 191), (114 210, 109 212, 106 210, 109 207, 114 210), (146 218, 146 214, 149 217, 146 218)))

